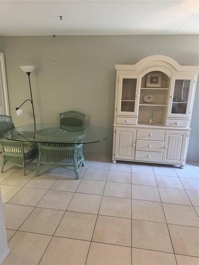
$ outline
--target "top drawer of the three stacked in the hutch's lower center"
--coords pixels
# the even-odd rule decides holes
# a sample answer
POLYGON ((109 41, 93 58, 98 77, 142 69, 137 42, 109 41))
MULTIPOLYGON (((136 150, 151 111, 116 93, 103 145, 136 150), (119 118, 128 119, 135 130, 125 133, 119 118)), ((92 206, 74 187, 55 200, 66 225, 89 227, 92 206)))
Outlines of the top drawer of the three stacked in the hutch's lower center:
POLYGON ((164 141, 164 132, 161 130, 137 130, 137 140, 164 141))

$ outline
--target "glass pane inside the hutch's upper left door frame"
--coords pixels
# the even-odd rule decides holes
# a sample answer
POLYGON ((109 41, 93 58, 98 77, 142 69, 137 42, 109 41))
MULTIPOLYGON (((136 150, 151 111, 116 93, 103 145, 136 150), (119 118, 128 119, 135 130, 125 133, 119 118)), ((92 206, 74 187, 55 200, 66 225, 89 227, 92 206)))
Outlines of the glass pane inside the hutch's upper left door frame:
POLYGON ((137 85, 137 79, 123 78, 121 111, 124 112, 135 111, 136 85, 137 85))

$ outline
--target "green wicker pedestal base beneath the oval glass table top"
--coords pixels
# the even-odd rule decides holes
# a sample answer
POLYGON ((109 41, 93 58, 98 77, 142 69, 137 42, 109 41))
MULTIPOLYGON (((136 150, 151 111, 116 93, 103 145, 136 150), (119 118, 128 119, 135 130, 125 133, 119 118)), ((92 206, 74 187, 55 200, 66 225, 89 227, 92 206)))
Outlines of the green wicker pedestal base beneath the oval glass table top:
POLYGON ((84 161, 82 142, 85 136, 86 132, 81 132, 76 137, 69 136, 66 144, 64 141, 60 143, 61 140, 58 140, 58 137, 58 143, 56 143, 54 138, 50 139, 50 137, 46 138, 37 135, 37 140, 40 142, 38 143, 39 157, 36 176, 39 176, 39 171, 43 168, 63 167, 74 171, 76 179, 79 179, 79 168, 84 161), (44 166, 41 167, 41 164, 44 166))

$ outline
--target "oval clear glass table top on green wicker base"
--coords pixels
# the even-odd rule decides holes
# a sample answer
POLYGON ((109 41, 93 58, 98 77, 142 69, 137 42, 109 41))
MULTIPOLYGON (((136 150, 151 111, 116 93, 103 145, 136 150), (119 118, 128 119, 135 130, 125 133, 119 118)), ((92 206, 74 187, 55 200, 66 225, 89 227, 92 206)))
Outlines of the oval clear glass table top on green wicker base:
MULTIPOLYGON (((109 131, 92 125, 67 126, 58 123, 28 124, 7 131, 3 139, 21 142, 67 143, 74 139, 83 139, 83 144, 105 140, 109 131)), ((76 140, 75 140, 76 141, 76 140)), ((78 143, 73 141, 73 143, 78 143)))

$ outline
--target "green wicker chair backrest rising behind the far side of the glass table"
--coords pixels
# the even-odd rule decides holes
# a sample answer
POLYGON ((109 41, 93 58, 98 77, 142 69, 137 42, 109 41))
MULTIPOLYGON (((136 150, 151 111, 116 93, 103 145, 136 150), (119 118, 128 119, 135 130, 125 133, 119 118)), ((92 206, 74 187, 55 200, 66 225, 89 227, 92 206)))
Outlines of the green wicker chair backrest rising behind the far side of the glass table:
POLYGON ((76 126, 76 125, 83 125, 84 124, 85 114, 82 114, 77 111, 67 111, 59 113, 59 121, 61 125, 69 125, 69 126, 76 126))

